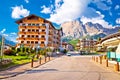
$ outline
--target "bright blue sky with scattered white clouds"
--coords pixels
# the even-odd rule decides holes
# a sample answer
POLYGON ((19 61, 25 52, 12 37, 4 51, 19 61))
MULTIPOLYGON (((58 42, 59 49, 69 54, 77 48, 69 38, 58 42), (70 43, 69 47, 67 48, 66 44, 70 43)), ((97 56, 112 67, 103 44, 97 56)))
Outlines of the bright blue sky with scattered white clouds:
POLYGON ((35 14, 55 26, 80 19, 103 27, 120 26, 120 0, 0 0, 0 34, 16 42, 15 21, 35 14))

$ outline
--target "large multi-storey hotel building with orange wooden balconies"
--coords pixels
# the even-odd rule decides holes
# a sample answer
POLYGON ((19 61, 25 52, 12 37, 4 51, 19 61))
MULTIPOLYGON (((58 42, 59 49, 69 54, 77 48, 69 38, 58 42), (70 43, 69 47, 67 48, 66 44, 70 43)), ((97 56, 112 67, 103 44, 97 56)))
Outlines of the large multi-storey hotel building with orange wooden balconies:
POLYGON ((56 29, 52 23, 36 15, 29 15, 16 23, 19 25, 17 47, 39 46, 40 48, 59 48, 62 28, 56 29))

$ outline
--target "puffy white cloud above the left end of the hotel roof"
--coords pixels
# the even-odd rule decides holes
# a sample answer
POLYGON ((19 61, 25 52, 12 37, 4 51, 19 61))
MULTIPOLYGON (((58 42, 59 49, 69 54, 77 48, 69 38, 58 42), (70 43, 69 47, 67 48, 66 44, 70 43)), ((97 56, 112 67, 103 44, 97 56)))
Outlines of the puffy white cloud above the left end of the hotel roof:
POLYGON ((26 17, 30 13, 30 11, 23 8, 23 5, 12 7, 12 10, 13 10, 12 11, 12 18, 15 18, 15 19, 21 18, 21 17, 26 17))

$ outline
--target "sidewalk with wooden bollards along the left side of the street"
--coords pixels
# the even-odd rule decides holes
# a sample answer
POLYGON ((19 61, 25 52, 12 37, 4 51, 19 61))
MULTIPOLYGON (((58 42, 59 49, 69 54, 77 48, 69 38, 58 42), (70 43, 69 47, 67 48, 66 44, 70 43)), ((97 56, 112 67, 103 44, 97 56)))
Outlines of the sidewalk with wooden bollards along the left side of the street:
MULTIPOLYGON (((47 57, 46 59, 46 62, 48 61, 51 61, 55 59, 55 57, 51 57, 50 60, 49 58, 47 57)), ((0 71, 0 79, 5 79, 5 78, 9 78, 9 77, 13 77, 13 76, 16 76, 18 74, 22 74, 24 73, 25 71, 27 70, 31 70, 35 67, 38 67, 40 65, 43 65, 46 63, 45 62, 45 58, 42 58, 41 60, 41 64, 39 64, 39 61, 34 61, 33 63, 33 67, 31 67, 31 63, 27 63, 27 64, 24 64, 24 65, 19 65, 19 66, 16 66, 16 67, 13 67, 13 68, 10 68, 8 70, 5 70, 5 71, 0 71)))

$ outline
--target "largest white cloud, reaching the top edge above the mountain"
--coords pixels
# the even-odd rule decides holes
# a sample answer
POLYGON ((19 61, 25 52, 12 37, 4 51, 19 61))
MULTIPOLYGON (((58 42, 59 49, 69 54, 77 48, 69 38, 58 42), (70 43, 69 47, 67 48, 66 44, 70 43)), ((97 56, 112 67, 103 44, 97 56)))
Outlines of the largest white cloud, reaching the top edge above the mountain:
POLYGON ((50 14, 48 20, 61 24, 79 18, 90 1, 91 0, 56 0, 56 8, 54 13, 50 14), (62 4, 60 4, 61 1, 63 2, 62 4))

